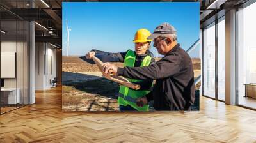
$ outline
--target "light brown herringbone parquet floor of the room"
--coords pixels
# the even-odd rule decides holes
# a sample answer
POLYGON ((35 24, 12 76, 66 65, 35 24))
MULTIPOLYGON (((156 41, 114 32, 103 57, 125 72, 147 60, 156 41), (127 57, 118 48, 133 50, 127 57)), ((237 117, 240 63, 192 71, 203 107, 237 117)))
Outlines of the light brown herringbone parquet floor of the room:
POLYGON ((256 112, 200 98, 199 112, 61 112, 61 87, 0 116, 0 142, 256 142, 256 112))

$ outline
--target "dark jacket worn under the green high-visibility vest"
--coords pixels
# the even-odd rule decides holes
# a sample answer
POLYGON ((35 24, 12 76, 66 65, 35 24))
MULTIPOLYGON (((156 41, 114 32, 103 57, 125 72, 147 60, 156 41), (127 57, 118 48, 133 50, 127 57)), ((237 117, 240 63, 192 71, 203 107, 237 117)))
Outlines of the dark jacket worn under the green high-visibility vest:
MULTIPOLYGON (((125 56, 127 54, 127 51, 126 52, 118 52, 118 53, 111 53, 111 52, 103 52, 103 51, 100 51, 100 50, 91 50, 93 52, 95 52, 95 56, 98 57, 102 62, 122 62, 124 63, 124 59, 125 59, 125 56)), ((134 67, 140 67, 141 63, 143 62, 143 59, 146 57, 146 56, 152 56, 152 54, 147 51, 146 54, 142 54, 142 55, 136 55, 136 59, 135 59, 135 63, 134 63, 134 67)), ((154 64, 155 63, 155 59, 152 57, 151 61, 150 61, 150 65, 154 64)), ((152 86, 152 82, 153 80, 152 79, 145 79, 141 82, 133 82, 135 84, 139 84, 141 86, 140 90, 145 90, 145 89, 150 89, 150 87, 152 86)))

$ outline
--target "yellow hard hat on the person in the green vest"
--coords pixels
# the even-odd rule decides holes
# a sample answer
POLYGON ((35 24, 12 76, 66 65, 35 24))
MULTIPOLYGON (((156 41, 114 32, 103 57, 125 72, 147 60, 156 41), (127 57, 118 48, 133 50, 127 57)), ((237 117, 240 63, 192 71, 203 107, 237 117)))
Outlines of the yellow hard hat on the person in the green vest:
POLYGON ((151 33, 150 31, 148 31, 148 29, 138 29, 138 31, 136 32, 135 36, 134 36, 134 43, 144 43, 147 41, 152 41, 152 40, 148 40, 148 36, 150 36, 151 33))

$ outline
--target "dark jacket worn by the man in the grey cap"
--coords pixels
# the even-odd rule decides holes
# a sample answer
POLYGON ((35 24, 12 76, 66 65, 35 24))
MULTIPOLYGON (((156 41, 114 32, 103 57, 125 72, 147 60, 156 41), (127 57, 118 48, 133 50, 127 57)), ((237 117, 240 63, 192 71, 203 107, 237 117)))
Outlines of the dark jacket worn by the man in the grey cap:
POLYGON ((162 59, 147 67, 118 68, 118 75, 132 79, 156 79, 147 99, 156 110, 190 110, 195 99, 191 58, 177 44, 162 59))

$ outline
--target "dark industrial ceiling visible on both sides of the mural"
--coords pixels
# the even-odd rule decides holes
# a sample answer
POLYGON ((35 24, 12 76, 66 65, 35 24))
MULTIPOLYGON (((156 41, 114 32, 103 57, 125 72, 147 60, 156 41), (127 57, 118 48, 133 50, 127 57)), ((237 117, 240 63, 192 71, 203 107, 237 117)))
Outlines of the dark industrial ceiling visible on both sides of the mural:
MULTIPOLYGON (((15 20, 35 20, 36 41, 51 42, 59 47, 62 43, 62 2, 88 2, 100 1, 106 2, 109 0, 1 0, 0 1, 0 16, 2 22, 9 29, 5 31, 13 32, 15 29, 15 20), (14 24, 14 25, 13 25, 14 24)), ((114 1, 114 0, 113 0, 114 1)), ((124 0, 125 1, 125 0, 124 0)), ((128 1, 128 0, 127 0, 128 1)), ((148 1, 148 0, 129 0, 129 1, 148 1)), ((149 0, 150 1, 150 0, 149 0)), ((157 1, 157 0, 151 0, 157 1)), ((170 1, 170 0, 158 0, 170 1)), ((171 0, 177 2, 179 0, 171 0)), ((248 0, 184 0, 183 2, 200 2, 200 27, 203 27, 207 21, 211 20, 216 13, 222 10, 228 10, 245 3, 248 0)), ((180 1, 179 1, 180 2, 180 1)), ((225 14, 225 11, 224 11, 225 14)), ((214 19, 212 19, 214 20, 214 19)), ((3 27, 3 26, 2 26, 3 27)), ((5 26, 4 26, 5 27, 5 26)), ((22 28, 18 28, 19 31, 22 28)))

